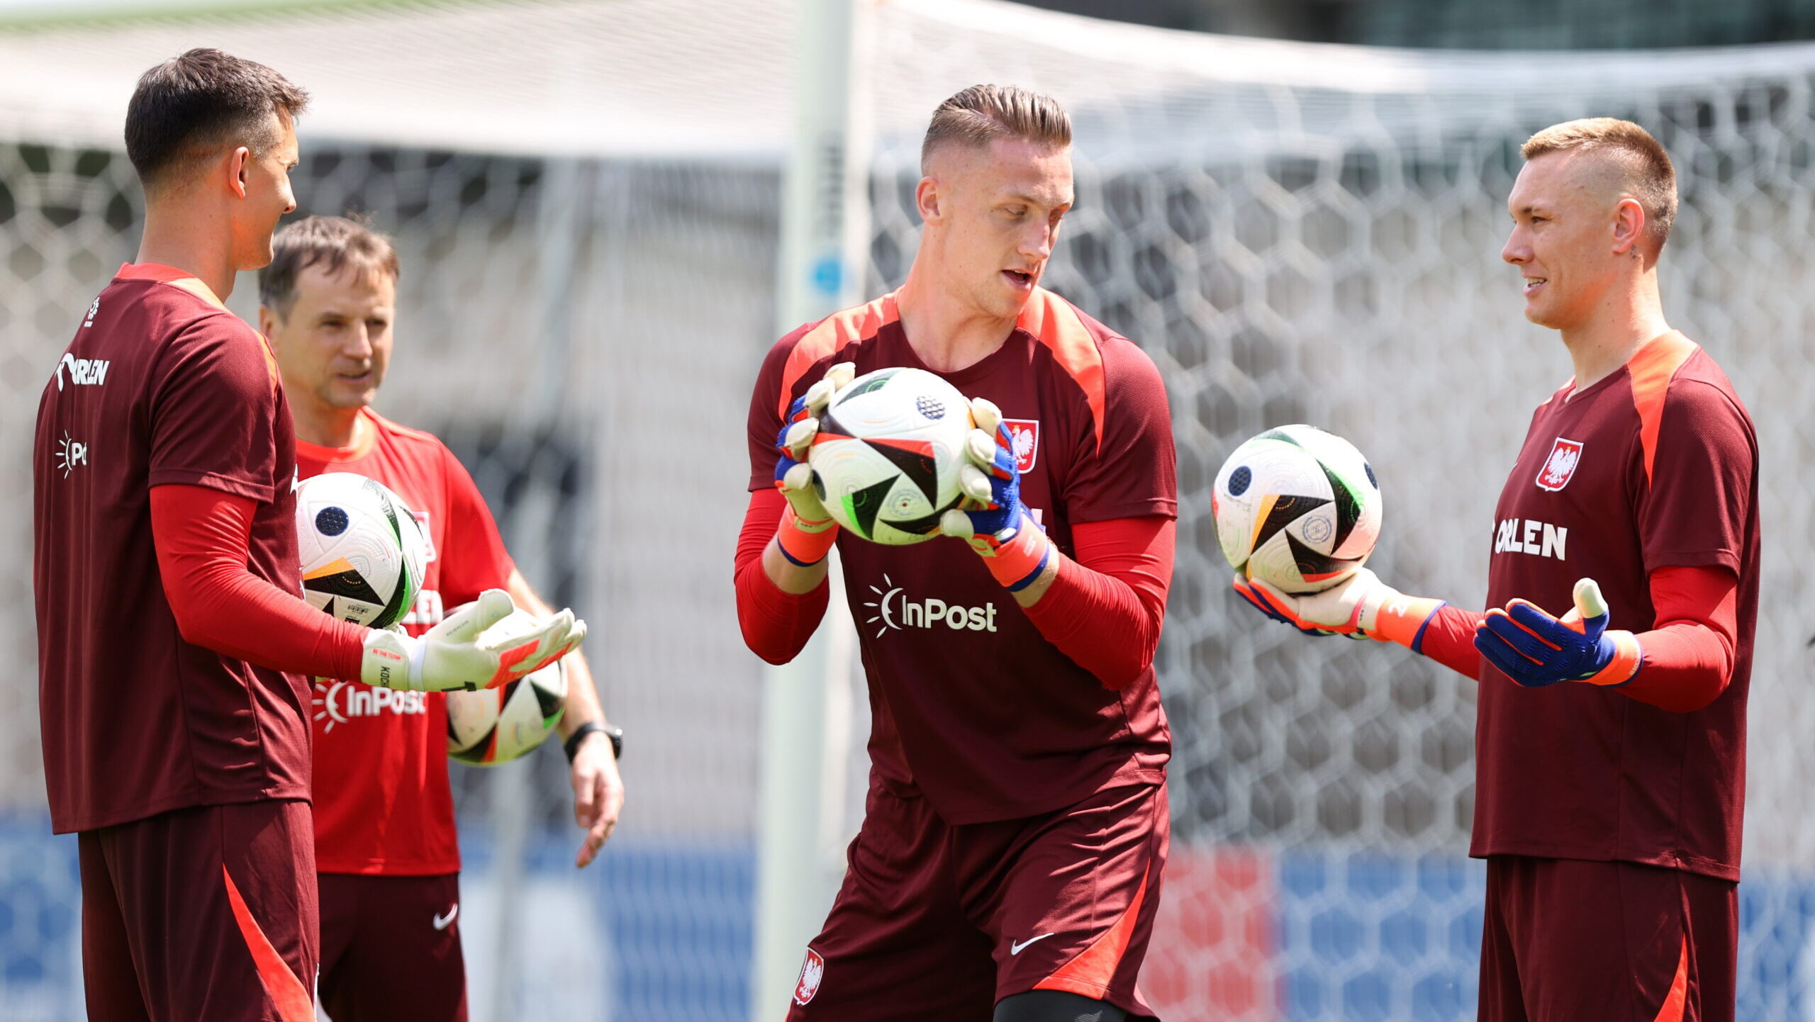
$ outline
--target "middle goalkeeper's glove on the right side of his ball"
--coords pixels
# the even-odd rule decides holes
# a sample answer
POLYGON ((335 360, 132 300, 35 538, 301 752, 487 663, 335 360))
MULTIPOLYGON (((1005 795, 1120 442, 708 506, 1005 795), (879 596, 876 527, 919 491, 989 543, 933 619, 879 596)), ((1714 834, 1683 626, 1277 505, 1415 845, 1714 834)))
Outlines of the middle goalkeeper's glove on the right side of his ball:
POLYGON ((1020 501, 1015 437, 1002 425, 1002 408, 975 398, 971 421, 976 428, 964 443, 964 465, 958 467, 964 505, 940 516, 938 530, 969 543, 998 583, 1020 592, 1053 561, 1053 541, 1020 501))

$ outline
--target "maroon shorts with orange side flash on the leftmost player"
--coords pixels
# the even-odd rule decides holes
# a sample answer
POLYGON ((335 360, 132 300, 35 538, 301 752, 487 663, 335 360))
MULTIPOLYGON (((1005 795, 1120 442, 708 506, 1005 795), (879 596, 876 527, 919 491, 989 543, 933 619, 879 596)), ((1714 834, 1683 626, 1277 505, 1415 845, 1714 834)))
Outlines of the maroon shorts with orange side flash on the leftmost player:
POLYGON ((172 810, 76 844, 91 1022, 314 1022, 309 802, 172 810))

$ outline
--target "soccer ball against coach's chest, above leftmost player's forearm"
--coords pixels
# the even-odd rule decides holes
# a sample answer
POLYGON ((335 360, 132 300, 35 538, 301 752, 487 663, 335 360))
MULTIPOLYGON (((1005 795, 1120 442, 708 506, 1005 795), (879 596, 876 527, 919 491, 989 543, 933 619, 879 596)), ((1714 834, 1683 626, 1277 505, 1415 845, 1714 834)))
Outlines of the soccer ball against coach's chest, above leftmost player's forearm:
POLYGON ((325 472, 296 488, 303 597, 354 624, 390 628, 416 606, 428 541, 383 483, 325 472))

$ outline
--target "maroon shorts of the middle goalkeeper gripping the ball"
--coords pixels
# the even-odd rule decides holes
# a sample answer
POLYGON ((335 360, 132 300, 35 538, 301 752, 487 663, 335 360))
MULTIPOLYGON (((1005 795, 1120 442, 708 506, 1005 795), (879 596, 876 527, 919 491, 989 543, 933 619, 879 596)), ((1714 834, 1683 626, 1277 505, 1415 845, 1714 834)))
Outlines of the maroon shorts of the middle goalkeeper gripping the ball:
POLYGON ((1033 989, 1154 1018, 1134 978, 1169 833, 1163 786, 949 826, 926 799, 873 784, 788 1018, 989 1022, 998 1000, 1033 989))

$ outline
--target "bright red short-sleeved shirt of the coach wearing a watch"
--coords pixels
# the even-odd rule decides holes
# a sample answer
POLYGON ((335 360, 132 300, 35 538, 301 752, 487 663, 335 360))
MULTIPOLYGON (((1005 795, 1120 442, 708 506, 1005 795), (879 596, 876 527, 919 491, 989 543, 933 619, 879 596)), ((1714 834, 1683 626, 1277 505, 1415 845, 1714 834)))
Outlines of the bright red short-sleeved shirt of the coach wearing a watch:
MULTIPOLYGON (((505 588, 514 565, 472 476, 432 434, 359 412, 352 447, 296 443, 303 479, 358 472, 396 490, 428 537, 410 635, 505 588)), ((459 870, 446 695, 316 679, 316 870, 423 877, 459 870)))

